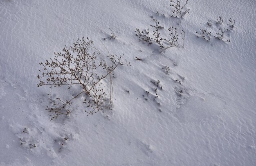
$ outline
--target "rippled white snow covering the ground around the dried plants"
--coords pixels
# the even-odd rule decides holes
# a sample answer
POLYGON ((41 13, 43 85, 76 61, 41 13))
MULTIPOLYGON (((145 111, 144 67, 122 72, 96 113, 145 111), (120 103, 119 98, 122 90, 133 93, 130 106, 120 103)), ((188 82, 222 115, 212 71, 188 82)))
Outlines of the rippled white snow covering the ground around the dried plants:
MULTIPOLYGON (((189 13, 173 18, 169 0, 1 0, 0 165, 255 166, 256 2, 189 0, 186 7, 189 13), (135 30, 152 32, 151 16, 164 38, 169 27, 184 30, 184 47, 180 41, 160 53, 155 43, 139 42, 135 30), (224 34, 231 42, 215 39, 229 18, 236 21, 224 34), (109 28, 117 38, 103 40, 109 28), (195 33, 206 28, 210 42, 195 33), (114 72, 108 117, 87 116, 78 102, 70 116, 50 121, 39 63, 83 36, 103 56, 106 48, 125 54, 132 66, 114 72), (157 80, 154 100, 150 81, 157 80)), ((73 93, 55 88, 52 97, 73 93)))

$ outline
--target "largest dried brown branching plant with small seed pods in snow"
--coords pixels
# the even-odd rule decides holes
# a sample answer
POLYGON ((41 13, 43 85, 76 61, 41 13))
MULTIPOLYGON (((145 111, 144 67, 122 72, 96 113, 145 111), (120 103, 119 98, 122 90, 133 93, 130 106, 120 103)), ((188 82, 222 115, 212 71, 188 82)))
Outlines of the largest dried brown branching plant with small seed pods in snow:
MULTIPOLYGON (((39 63, 43 70, 39 70, 38 87, 49 85, 52 87, 67 86, 71 89, 73 86, 80 88, 80 92, 69 96, 70 99, 63 100, 61 97, 50 99, 51 104, 46 110, 52 112, 51 120, 57 118, 60 114, 70 114, 71 105, 79 96, 83 95, 84 102, 87 105, 88 114, 112 109, 112 72, 119 65, 130 65, 126 60, 121 61, 124 56, 108 55, 111 65, 107 65, 105 58, 99 50, 94 47, 94 42, 89 38, 78 39, 73 46, 65 46, 63 52, 54 53, 54 58, 46 60, 45 63, 39 63), (109 95, 103 90, 101 81, 110 77, 109 95)), ((49 94, 50 95, 50 94, 49 94)))

